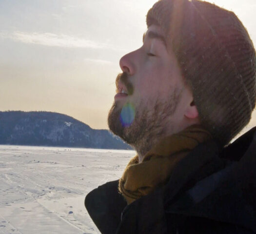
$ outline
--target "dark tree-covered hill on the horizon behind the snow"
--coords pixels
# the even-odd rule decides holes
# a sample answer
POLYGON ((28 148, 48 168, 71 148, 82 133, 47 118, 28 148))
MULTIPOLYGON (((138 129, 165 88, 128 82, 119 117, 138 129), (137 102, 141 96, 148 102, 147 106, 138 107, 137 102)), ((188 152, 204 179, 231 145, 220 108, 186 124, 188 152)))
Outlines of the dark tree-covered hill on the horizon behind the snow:
POLYGON ((0 144, 131 149, 108 130, 53 112, 0 112, 0 144))

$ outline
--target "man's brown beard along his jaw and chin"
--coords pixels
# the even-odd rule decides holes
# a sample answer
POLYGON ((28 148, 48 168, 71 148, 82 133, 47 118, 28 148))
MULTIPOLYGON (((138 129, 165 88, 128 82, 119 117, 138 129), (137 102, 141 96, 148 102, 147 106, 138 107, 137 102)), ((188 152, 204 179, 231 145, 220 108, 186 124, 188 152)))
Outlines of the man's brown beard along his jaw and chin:
POLYGON ((130 125, 124 124, 121 119, 124 105, 119 107, 118 102, 114 102, 108 115, 109 129, 135 148, 139 144, 143 151, 149 150, 155 139, 168 135, 166 125, 169 125, 170 130, 173 123, 169 117, 175 113, 181 92, 182 90, 173 87, 167 100, 161 100, 159 97, 154 100, 153 108, 141 100, 135 106, 135 117, 130 125))

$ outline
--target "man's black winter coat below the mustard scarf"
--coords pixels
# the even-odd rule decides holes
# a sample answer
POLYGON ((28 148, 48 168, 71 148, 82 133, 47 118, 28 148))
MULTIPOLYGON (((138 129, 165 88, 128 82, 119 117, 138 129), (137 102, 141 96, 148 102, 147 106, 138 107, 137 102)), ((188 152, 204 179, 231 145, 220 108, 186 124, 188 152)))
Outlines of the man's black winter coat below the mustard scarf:
POLYGON ((221 169, 206 166, 178 190, 169 182, 130 205, 118 180, 108 182, 86 196, 86 209, 102 234, 256 234, 256 127, 221 152, 209 141, 187 158, 205 154, 221 169))

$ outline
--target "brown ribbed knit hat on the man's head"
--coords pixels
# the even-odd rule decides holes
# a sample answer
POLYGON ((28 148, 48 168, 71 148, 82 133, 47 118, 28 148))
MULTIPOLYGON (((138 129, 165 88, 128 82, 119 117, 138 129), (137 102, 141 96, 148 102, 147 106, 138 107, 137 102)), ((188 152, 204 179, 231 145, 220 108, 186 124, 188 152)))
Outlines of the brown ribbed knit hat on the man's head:
POLYGON ((159 0, 158 23, 191 87, 201 124, 224 146, 250 121, 256 102, 256 53, 236 15, 199 0, 159 0))

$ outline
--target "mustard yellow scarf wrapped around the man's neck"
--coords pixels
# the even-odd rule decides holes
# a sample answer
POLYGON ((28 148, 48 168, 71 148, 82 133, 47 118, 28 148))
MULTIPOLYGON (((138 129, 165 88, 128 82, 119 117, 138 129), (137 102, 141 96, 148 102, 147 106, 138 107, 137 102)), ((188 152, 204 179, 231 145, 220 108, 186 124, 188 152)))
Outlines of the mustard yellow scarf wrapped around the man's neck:
POLYGON ((163 138, 141 163, 138 163, 138 156, 131 159, 119 180, 119 192, 128 204, 148 195, 168 182, 181 159, 199 143, 211 138, 210 133, 200 125, 192 125, 180 133, 163 138))

